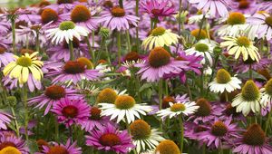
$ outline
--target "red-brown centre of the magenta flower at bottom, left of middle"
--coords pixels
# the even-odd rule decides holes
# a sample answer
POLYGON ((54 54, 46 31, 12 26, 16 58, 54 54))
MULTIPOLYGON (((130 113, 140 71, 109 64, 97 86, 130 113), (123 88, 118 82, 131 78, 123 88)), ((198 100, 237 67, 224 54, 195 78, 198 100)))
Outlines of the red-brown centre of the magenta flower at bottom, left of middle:
POLYGON ((103 146, 115 146, 121 143, 119 136, 113 133, 103 134, 99 141, 103 146))

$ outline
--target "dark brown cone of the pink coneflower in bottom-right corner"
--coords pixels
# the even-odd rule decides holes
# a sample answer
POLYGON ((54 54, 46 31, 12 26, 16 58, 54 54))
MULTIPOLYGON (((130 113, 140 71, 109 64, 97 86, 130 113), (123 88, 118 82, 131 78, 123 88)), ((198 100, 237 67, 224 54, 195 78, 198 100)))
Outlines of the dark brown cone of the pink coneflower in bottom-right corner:
POLYGON ((251 146, 261 146, 266 141, 266 134, 258 124, 252 124, 244 133, 243 141, 251 146))

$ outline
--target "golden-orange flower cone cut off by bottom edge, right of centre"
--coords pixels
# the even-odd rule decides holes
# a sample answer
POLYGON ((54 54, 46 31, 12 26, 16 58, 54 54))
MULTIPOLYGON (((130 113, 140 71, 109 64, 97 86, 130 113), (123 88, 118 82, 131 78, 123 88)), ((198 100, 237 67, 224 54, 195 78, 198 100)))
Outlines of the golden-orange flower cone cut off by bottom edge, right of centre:
POLYGON ((172 140, 162 140, 156 147, 155 153, 160 154, 180 154, 180 149, 172 140))

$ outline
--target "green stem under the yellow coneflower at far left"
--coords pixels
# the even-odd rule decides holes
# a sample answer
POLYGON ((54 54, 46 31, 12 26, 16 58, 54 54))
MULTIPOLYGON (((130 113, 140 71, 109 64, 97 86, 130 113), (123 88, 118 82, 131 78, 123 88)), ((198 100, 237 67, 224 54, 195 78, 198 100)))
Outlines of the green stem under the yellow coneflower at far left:
POLYGON ((28 140, 28 108, 27 108, 27 86, 26 84, 23 85, 22 88, 22 98, 24 103, 24 133, 25 133, 25 140, 28 140))

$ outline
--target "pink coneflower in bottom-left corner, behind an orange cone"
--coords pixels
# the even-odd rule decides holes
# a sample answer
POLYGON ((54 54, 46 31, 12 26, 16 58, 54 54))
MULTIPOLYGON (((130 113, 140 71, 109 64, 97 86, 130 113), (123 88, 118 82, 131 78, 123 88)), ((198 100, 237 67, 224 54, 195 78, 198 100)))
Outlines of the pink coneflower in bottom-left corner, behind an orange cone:
POLYGON ((0 134, 0 150, 13 148, 13 151, 20 152, 22 154, 28 154, 29 149, 26 146, 26 143, 21 138, 17 138, 13 134, 5 134, 1 132, 0 134))

